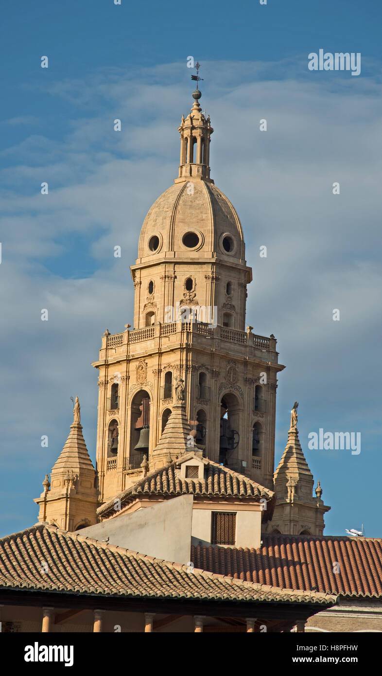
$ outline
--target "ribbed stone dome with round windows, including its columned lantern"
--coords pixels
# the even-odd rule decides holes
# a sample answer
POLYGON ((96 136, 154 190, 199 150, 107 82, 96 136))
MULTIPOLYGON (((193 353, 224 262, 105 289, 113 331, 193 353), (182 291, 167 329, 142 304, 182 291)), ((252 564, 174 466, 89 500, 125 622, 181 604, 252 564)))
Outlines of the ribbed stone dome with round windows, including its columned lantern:
MULTIPOLYGON (((194 92, 195 94, 195 92, 194 92)), ((193 95, 194 95, 193 94, 193 95)), ((137 264, 213 258, 245 266, 239 216, 210 178, 210 116, 197 98, 182 116, 181 164, 174 185, 153 203, 141 229, 137 264)))

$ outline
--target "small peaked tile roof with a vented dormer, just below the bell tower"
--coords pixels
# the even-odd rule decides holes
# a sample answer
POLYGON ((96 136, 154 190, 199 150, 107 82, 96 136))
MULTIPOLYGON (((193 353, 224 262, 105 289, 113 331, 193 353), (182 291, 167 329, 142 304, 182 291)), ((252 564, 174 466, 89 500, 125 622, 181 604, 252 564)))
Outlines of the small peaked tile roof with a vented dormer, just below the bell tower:
MULTIPOLYGON (((181 458, 181 460, 183 459, 181 458)), ((116 514, 114 500, 118 498, 123 508, 128 503, 146 496, 175 498, 185 493, 193 493, 197 498, 236 498, 239 500, 249 499, 252 502, 266 498, 268 504, 267 509, 264 510, 264 518, 272 516, 274 493, 264 486, 260 486, 256 481, 252 481, 252 479, 248 479, 248 477, 208 459, 204 459, 206 479, 181 479, 176 468, 177 462, 172 462, 150 472, 133 486, 122 491, 122 493, 118 493, 112 500, 105 502, 97 509, 97 514, 102 517, 108 514, 114 516, 116 514)))

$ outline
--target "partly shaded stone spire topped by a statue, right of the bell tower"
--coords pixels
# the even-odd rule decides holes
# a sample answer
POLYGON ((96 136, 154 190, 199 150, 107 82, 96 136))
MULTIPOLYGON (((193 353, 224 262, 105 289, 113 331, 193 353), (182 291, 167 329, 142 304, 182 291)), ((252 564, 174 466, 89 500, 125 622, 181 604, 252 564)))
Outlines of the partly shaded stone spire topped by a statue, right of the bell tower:
POLYGON ((314 479, 306 462, 297 430, 297 402, 291 410, 288 441, 274 472, 276 507, 268 531, 285 535, 323 535, 324 514, 330 507, 321 500, 320 483, 312 496, 314 479))

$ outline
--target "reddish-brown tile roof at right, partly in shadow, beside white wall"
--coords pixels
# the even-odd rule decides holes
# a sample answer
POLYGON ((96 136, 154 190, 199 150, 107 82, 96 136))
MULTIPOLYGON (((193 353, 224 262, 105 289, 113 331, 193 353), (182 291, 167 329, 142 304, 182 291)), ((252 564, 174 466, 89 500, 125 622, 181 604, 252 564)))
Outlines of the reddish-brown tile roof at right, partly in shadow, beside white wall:
POLYGON ((259 549, 191 546, 191 561, 248 582, 341 596, 382 596, 382 539, 264 535, 259 549), (339 563, 339 573, 333 565, 339 563))

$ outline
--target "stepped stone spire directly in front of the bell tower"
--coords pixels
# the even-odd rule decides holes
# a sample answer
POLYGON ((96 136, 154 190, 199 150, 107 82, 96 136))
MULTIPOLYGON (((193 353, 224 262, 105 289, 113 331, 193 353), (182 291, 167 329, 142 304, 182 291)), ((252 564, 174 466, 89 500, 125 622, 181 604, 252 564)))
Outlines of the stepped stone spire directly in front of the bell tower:
POLYGON ((193 444, 185 403, 174 404, 162 436, 153 450, 153 468, 164 466, 170 459, 176 460, 191 452, 193 444))

